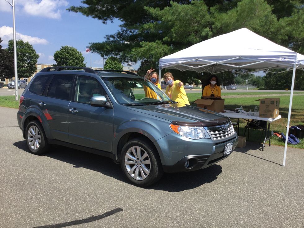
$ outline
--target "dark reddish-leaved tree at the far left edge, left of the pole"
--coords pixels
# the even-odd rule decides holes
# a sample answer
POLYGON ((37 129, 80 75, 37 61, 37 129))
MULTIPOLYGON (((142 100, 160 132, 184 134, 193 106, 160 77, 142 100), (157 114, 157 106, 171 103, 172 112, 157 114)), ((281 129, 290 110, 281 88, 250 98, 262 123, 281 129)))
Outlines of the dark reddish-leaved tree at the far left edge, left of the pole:
POLYGON ((7 50, 2 49, 0 37, 0 78, 11 78, 14 75, 14 56, 7 50))

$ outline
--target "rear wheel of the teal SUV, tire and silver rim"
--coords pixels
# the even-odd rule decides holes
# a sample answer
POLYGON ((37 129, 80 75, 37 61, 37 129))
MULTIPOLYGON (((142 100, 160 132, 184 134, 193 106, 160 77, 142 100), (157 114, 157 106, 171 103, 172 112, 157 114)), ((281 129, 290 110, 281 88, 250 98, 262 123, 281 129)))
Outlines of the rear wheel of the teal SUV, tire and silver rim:
POLYGON ((49 150, 47 138, 38 120, 33 120, 26 126, 25 141, 32 154, 44 154, 49 150))

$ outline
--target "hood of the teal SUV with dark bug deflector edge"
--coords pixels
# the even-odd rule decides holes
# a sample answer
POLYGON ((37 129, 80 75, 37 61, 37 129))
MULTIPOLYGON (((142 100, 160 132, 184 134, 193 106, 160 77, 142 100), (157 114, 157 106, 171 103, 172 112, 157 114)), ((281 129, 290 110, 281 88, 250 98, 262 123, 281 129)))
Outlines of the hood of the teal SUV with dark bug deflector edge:
POLYGON ((216 112, 191 105, 181 105, 179 103, 126 107, 141 113, 166 119, 172 123, 178 122, 178 124, 189 126, 214 126, 230 121, 226 116, 216 112))

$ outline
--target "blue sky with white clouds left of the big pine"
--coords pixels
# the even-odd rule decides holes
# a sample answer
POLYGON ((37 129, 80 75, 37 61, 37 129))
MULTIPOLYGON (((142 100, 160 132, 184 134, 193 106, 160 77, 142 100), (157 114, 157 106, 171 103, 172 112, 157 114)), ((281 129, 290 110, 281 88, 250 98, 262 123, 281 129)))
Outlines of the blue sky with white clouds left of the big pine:
MULTIPOLYGON (((7 0, 12 3, 12 0, 7 0)), ((83 5, 80 0, 15 0, 16 38, 28 41, 40 56, 38 63, 53 64, 55 51, 62 46, 75 47, 91 66, 91 52, 86 52, 89 42, 102 42, 105 35, 114 34, 119 20, 104 25, 101 21, 66 11, 70 6, 83 5)), ((3 48, 13 38, 12 7, 0 0, 0 37, 3 48)), ((127 64, 123 64, 127 65, 127 64)), ((132 65, 135 69, 139 64, 132 65)), ((92 67, 103 67, 103 59, 92 54, 92 67)))

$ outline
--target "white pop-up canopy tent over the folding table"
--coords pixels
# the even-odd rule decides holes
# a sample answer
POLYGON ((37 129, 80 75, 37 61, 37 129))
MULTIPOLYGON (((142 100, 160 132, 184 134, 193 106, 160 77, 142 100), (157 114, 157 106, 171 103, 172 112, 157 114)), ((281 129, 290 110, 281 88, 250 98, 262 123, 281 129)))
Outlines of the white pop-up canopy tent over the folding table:
MULTIPOLYGON (((303 55, 243 28, 194 44, 159 59, 159 75, 161 75, 161 69, 192 70, 197 73, 216 74, 224 71, 238 72, 241 69, 271 72, 271 69, 279 68, 293 70, 286 132, 288 135, 295 72, 296 69, 304 70, 303 55)), ((286 151, 287 140, 284 148, 283 166, 285 165, 286 151)))

